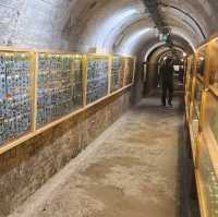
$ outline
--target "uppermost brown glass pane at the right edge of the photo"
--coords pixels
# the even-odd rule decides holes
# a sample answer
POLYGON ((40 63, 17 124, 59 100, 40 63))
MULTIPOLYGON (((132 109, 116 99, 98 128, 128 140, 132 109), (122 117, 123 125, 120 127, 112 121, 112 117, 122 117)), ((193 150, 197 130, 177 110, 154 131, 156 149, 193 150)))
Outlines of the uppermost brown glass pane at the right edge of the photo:
POLYGON ((213 41, 210 44, 211 49, 209 53, 209 83, 218 88, 218 41, 213 41))

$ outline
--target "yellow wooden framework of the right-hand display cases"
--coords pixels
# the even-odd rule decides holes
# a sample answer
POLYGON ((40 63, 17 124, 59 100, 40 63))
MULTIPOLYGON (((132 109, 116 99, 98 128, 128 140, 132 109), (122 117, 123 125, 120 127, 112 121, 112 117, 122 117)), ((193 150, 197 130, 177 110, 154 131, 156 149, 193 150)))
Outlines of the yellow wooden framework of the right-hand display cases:
MULTIPOLYGON (((195 69, 193 73, 192 81, 186 81, 192 83, 192 97, 191 101, 185 100, 185 119, 186 119, 186 125, 189 125, 190 131, 190 137, 191 137, 191 146, 192 146, 192 155, 193 155, 193 161, 195 167, 195 179, 196 179, 196 186, 197 186, 197 194, 198 194, 198 201, 199 201, 199 209, 201 209, 201 216, 203 217, 209 217, 208 216, 208 207, 207 207, 207 197, 204 192, 204 180, 201 176, 201 153, 202 153, 202 145, 206 145, 209 149, 209 155, 211 156, 213 165, 218 165, 218 144, 215 140, 213 140, 213 136, 208 133, 208 131, 205 131, 205 116, 206 116, 206 104, 207 101, 207 95, 213 94, 217 100, 218 100, 218 89, 214 86, 209 85, 209 72, 210 72, 210 49, 213 49, 213 41, 217 40, 218 38, 213 38, 211 40, 203 44, 201 47, 198 47, 194 53, 194 56, 190 56, 187 58, 187 69, 191 68, 191 58, 195 57, 197 58, 197 52, 199 49, 205 47, 205 71, 204 71, 204 77, 199 76, 199 74, 196 73, 196 59, 195 61, 195 69), (192 109, 194 109, 194 91, 195 91, 195 84, 196 82, 199 82, 203 85, 203 93, 202 93, 202 99, 201 99, 201 111, 198 114, 199 119, 199 129, 196 140, 194 140, 193 130, 192 130, 192 109), (193 148, 195 147, 195 148, 193 148)), ((186 84, 185 84, 186 85, 186 84)), ((186 91, 186 87, 185 87, 186 91)), ((185 94, 186 99, 186 94, 185 94)), ((218 109, 218 108, 217 108, 218 109)), ((218 168, 216 167, 216 174, 218 176, 218 168)))

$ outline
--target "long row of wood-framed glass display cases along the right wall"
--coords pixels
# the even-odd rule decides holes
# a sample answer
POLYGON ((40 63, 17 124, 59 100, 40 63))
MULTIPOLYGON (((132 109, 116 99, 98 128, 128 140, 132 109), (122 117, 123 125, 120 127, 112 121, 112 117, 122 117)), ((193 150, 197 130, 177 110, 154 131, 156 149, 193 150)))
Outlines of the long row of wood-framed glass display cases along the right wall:
MULTIPOLYGON (((187 76, 186 89, 192 84, 191 100, 186 100, 186 122, 193 156, 202 216, 218 216, 218 39, 196 51, 193 76, 187 76), (195 72, 196 70, 196 72, 195 72), (191 117, 187 116, 191 110, 191 117), (201 192, 201 193, 199 193, 201 192)), ((190 57, 192 58, 192 56, 190 57)), ((189 69, 189 68, 187 68, 189 69)))

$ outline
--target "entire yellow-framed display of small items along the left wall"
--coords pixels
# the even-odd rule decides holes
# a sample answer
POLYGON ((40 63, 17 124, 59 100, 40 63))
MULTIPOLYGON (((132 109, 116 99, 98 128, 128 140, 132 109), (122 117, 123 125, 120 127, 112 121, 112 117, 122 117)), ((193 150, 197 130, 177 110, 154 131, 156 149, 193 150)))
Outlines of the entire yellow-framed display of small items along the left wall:
POLYGON ((124 72, 133 77, 134 67, 125 59, 2 47, 0 154, 128 88, 124 72))

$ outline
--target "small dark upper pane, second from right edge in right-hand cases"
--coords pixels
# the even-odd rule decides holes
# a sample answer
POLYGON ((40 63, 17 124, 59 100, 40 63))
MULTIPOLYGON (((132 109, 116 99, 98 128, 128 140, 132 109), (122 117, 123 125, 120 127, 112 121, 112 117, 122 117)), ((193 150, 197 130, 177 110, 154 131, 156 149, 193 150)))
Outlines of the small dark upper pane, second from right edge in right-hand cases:
POLYGON ((206 47, 201 48, 196 55, 196 74, 204 77, 206 47))

